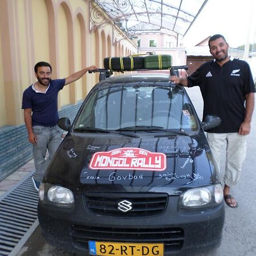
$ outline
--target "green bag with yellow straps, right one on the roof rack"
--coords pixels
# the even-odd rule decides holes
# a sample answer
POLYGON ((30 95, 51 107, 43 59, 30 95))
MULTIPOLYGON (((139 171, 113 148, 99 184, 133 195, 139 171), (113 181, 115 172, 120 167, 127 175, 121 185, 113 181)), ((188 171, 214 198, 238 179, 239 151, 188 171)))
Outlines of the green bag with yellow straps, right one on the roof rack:
POLYGON ((148 55, 144 57, 144 68, 168 69, 172 67, 171 55, 148 55))

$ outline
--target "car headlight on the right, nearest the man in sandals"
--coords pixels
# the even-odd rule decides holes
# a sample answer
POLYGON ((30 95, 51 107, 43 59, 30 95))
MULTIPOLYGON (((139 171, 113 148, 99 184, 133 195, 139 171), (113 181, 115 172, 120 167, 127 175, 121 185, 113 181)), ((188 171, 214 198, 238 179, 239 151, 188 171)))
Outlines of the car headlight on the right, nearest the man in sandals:
POLYGON ((193 188, 184 192, 180 197, 181 208, 207 207, 209 204, 217 205, 223 200, 221 184, 207 187, 193 188))

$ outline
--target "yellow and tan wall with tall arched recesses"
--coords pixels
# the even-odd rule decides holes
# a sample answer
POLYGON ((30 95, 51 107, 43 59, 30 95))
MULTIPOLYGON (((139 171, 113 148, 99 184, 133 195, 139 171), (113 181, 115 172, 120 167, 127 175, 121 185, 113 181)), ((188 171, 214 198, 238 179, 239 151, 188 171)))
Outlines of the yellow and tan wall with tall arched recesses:
MULTIPOLYGON (((0 0, 0 127, 24 123, 22 94, 36 81, 38 61, 51 63, 56 79, 93 64, 103 68, 103 58, 118 46, 137 51, 129 39, 114 42, 113 22, 90 30, 94 7, 89 0, 0 0)), ((83 100, 96 82, 98 73, 86 73, 65 86, 59 109, 83 100)))

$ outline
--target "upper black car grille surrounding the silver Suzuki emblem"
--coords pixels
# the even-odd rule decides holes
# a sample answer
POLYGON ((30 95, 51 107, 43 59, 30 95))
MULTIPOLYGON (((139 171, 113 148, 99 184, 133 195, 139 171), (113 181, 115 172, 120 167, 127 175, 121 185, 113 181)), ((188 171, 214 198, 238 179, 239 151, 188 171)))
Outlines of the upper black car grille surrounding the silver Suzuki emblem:
POLYGON ((166 193, 90 193, 85 204, 90 213, 109 217, 150 217, 162 214, 166 209, 166 193), (122 212, 118 203, 129 201, 131 209, 122 212))

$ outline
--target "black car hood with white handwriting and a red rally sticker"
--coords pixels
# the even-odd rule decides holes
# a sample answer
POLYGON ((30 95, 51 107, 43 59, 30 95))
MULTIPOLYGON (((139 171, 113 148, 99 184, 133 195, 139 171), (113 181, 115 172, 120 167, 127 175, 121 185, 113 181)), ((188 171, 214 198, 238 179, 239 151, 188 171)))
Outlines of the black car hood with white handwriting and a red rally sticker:
POLYGON ((68 134, 44 176, 72 190, 180 193, 218 179, 207 139, 68 134))

